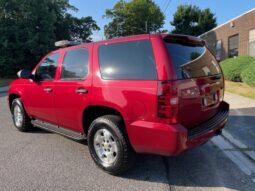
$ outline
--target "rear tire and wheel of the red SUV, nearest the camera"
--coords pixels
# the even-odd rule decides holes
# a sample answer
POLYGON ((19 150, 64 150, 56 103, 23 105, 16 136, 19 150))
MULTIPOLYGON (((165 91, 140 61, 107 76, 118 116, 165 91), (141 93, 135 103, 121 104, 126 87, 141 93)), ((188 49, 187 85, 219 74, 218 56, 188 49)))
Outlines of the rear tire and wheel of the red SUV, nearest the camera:
POLYGON ((135 162, 135 152, 119 116, 95 119, 88 131, 88 147, 96 165, 109 174, 122 174, 135 162))

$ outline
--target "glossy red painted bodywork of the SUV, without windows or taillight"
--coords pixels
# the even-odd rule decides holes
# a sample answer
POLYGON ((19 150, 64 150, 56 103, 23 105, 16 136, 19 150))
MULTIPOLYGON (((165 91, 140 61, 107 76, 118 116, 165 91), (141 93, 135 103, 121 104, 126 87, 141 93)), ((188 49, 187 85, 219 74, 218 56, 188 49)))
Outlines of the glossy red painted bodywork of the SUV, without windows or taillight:
MULTIPOLYGON (((176 35, 173 35, 174 37, 176 35)), ((168 55, 163 38, 166 35, 138 35, 90 44, 83 44, 56 50, 60 53, 56 76, 53 81, 33 82, 15 80, 9 95, 19 95, 31 118, 39 118, 74 131, 84 133, 83 112, 88 106, 107 106, 117 110, 124 119, 128 137, 133 148, 140 153, 176 155, 202 144, 223 128, 225 122, 213 130, 188 140, 188 129, 213 117, 219 110, 220 101, 212 107, 201 108, 201 100, 206 93, 218 92, 223 96, 223 79, 214 83, 210 78, 175 81, 171 55, 168 55), (103 80, 100 76, 98 48, 105 43, 133 40, 151 40, 158 80, 103 80), (66 51, 87 48, 89 51, 89 72, 83 81, 60 80, 61 65, 66 51), (173 107, 175 121, 158 117, 159 86, 167 81, 176 88, 178 107, 173 107), (52 92, 43 91, 50 87, 52 92), (77 88, 84 88, 87 94, 77 94, 77 88), (193 94, 190 94, 193 92, 193 94)), ((197 40, 191 38, 189 40, 197 40)), ((40 64, 40 63, 39 63, 40 64)), ((39 65, 38 64, 38 65, 39 65)), ((169 98, 176 96, 169 95, 169 98)), ((85 116, 86 120, 86 116, 85 116)))

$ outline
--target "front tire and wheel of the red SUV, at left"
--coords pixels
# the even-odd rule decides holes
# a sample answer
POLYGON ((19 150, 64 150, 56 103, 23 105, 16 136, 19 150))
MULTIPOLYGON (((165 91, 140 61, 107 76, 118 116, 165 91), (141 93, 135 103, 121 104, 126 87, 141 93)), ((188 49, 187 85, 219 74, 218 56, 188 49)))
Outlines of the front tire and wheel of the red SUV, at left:
POLYGON ((28 117, 20 98, 13 100, 11 112, 13 123, 19 131, 26 132, 32 128, 31 120, 28 117))

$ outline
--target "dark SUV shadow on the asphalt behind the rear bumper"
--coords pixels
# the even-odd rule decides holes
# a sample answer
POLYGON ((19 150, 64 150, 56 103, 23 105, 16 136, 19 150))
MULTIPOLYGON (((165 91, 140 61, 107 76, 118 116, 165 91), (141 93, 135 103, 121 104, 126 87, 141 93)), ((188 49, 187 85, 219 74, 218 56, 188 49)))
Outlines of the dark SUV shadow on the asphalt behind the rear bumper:
POLYGON ((177 187, 180 190, 225 188, 248 191, 255 186, 211 142, 176 157, 138 155, 137 159, 134 168, 123 178, 169 184, 173 190, 177 187))

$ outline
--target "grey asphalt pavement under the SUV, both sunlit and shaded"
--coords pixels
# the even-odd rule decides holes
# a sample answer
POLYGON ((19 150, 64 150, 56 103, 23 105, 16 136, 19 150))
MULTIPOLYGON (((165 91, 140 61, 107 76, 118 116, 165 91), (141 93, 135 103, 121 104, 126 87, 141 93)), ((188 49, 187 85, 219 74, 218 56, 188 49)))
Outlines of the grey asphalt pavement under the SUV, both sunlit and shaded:
MULTIPOLYGON (((86 142, 34 129, 18 132, 0 93, 0 190, 247 190, 250 173, 231 160, 214 139, 178 157, 137 156, 133 169, 111 176, 98 169, 86 142)), ((238 151, 239 152, 239 151, 238 151)))

